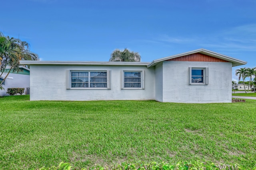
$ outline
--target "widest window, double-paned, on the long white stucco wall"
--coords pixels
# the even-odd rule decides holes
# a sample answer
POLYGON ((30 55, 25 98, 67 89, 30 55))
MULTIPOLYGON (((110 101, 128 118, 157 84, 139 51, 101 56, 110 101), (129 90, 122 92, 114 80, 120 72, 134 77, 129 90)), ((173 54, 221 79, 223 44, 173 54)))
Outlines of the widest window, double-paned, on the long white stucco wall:
POLYGON ((67 89, 103 88, 110 89, 110 71, 70 71, 67 70, 67 89))

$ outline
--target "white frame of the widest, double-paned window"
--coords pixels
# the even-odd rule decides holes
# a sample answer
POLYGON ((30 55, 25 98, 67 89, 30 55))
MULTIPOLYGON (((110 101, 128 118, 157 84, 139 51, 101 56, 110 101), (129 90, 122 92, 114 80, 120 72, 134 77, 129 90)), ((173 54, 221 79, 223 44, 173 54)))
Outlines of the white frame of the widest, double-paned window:
POLYGON ((66 89, 111 89, 111 70, 66 70, 66 89), (72 87, 72 72, 88 72, 88 87, 72 87), (107 87, 90 87, 90 72, 107 72, 107 87))

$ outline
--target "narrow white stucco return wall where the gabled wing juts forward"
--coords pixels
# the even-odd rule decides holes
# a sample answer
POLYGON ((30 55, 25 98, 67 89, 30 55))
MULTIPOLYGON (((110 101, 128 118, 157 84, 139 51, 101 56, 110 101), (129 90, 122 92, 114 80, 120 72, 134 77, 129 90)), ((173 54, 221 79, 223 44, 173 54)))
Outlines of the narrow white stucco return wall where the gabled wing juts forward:
POLYGON ((159 63, 155 66, 156 74, 156 100, 163 102, 163 64, 159 63))

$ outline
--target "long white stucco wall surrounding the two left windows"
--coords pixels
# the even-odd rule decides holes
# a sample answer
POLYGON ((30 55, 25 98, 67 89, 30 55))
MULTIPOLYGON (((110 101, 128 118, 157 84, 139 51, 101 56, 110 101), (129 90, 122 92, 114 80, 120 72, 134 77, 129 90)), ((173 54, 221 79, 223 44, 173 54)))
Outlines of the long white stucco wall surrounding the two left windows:
POLYGON ((30 100, 154 100, 154 67, 31 65, 30 100), (66 89, 66 70, 111 70, 111 89, 66 89), (121 70, 144 70, 144 89, 121 89, 121 70))

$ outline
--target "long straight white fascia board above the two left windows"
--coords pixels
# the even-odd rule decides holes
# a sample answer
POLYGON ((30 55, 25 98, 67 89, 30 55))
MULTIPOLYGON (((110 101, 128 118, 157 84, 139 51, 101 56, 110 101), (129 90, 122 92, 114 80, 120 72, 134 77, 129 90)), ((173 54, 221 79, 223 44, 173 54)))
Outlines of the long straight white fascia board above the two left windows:
POLYGON ((126 65, 147 66, 149 62, 110 62, 110 61, 20 61, 25 65, 126 65))

